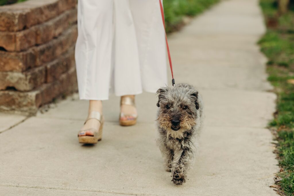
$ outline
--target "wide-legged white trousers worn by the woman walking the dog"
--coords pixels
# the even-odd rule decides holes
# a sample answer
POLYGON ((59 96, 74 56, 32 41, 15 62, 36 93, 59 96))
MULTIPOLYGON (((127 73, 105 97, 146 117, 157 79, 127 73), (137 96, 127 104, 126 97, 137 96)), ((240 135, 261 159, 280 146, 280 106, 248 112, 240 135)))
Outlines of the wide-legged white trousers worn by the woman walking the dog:
POLYGON ((80 99, 156 92, 167 84, 158 0, 79 0, 75 48, 80 99))

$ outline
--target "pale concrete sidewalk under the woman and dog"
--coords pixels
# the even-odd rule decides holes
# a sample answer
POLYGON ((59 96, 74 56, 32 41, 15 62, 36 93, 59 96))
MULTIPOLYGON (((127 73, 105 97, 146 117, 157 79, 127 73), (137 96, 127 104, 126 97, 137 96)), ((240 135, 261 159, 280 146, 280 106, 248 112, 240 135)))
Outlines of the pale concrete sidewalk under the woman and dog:
POLYGON ((194 84, 205 101, 200 154, 184 185, 171 182, 155 144, 155 94, 137 96, 133 127, 118 125, 118 97, 105 101, 95 146, 78 143, 88 103, 75 95, 29 119, 0 115, 0 195, 276 195, 265 128, 275 94, 256 45, 264 31, 258 0, 228 0, 169 36, 176 82, 194 84))

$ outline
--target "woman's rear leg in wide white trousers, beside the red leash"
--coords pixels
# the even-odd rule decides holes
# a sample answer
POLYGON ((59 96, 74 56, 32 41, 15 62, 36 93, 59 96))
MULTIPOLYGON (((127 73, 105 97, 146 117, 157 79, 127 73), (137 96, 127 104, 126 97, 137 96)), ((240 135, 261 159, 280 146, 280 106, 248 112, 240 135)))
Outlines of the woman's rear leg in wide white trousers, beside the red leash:
MULTIPOLYGON (((116 34, 116 52, 122 55, 116 55, 115 71, 121 71, 116 72, 115 87, 116 95, 131 95, 129 97, 133 99, 134 94, 139 94, 142 89, 155 93, 167 84, 165 31, 158 0, 116 0, 115 7, 123 2, 127 2, 125 6, 120 5, 120 9, 115 10, 120 24, 116 24, 116 32, 120 32, 116 34), (126 67, 128 71, 123 72, 126 67), (132 87, 140 90, 134 91, 130 89, 132 87)), ((121 112, 137 114, 132 105, 123 104, 121 112)))

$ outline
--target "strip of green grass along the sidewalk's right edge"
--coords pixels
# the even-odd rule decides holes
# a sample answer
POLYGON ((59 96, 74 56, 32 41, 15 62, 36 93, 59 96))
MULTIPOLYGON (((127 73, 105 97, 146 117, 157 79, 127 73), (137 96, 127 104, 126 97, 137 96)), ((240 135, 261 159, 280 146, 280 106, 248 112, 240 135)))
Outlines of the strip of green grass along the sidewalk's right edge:
POLYGON ((267 32, 260 39, 261 51, 268 57, 268 80, 278 95, 277 112, 270 127, 277 133, 278 182, 280 191, 285 195, 294 195, 294 9, 278 14, 276 0, 260 0, 267 32))

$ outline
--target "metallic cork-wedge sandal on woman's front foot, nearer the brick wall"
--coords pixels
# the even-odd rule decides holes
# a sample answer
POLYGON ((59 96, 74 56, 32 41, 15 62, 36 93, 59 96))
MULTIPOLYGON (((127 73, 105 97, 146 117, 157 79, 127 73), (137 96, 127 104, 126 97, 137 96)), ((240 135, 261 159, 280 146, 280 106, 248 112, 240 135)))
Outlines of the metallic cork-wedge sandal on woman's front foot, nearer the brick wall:
POLYGON ((104 123, 104 118, 100 114, 100 112, 92 111, 88 115, 88 118, 86 119, 84 124, 86 124, 89 119, 96 119, 100 122, 99 130, 95 128, 80 130, 78 132, 78 141, 83 144, 96 144, 102 139, 102 127, 104 123))

